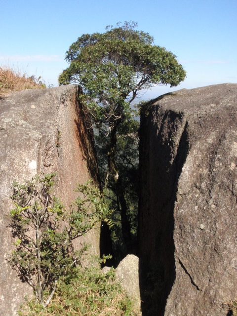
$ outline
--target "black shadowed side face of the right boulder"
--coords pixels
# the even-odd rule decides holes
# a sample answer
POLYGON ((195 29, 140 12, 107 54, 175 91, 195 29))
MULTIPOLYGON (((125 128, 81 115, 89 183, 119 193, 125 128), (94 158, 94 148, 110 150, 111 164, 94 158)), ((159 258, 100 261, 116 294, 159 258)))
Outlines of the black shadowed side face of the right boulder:
MULTIPOLYGON (((155 115, 154 110, 150 115, 155 115)), ((174 204, 189 141, 186 123, 170 164, 174 150, 170 142, 172 130, 182 128, 182 114, 165 113, 159 130, 156 124, 144 126, 151 121, 151 117, 145 121, 141 119, 140 175, 143 188, 139 201, 139 279, 142 315, 163 316, 175 280, 174 204)))

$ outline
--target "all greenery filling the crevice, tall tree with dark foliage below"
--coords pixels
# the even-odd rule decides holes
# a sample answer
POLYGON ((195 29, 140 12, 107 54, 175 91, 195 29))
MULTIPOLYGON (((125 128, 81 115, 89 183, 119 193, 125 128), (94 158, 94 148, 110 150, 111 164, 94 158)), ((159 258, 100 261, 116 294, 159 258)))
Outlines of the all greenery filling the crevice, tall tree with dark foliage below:
MULTIPOLYGON (((78 83, 96 141, 100 178, 116 209, 116 255, 136 253, 138 200, 138 122, 134 102, 141 90, 178 85, 186 73, 176 56, 154 44, 137 23, 109 26, 105 33, 84 34, 66 52, 69 67, 59 84, 78 83), (119 249, 120 247, 120 249, 119 249)), ((113 235, 112 234, 112 235, 113 235)))

